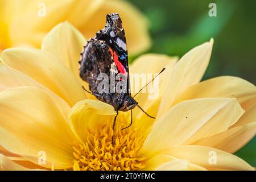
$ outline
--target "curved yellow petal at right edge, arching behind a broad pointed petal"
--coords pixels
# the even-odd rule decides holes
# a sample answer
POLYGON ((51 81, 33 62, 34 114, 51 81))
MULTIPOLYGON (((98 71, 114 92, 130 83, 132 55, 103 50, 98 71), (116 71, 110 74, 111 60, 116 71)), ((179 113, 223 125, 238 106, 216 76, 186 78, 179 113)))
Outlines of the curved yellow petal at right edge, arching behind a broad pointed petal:
POLYGON ((234 97, 247 110, 256 103, 256 86, 238 77, 216 77, 191 86, 177 98, 175 104, 204 97, 234 97))

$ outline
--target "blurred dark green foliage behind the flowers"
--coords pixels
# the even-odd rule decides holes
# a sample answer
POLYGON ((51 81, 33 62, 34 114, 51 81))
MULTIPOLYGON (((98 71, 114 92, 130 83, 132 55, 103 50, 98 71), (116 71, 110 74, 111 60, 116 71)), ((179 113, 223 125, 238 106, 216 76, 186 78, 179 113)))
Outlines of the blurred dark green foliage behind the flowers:
MULTIPOLYGON (((256 84, 256 1, 129 1, 149 20, 153 44, 148 52, 181 57, 189 49, 214 38, 203 80, 231 75, 256 84), (217 17, 208 15, 212 2, 217 5, 217 17)), ((256 138, 236 155, 256 166, 256 138)))

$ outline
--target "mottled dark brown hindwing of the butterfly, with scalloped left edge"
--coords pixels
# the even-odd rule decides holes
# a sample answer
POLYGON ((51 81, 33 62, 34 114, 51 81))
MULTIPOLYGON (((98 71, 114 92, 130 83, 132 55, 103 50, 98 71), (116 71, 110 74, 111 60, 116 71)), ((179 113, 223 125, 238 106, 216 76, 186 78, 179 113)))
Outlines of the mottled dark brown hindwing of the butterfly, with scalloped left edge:
POLYGON ((110 80, 115 79, 118 72, 108 45, 102 40, 90 39, 79 63, 80 77, 89 83, 92 94, 117 110, 121 94, 114 92, 116 82, 110 80))

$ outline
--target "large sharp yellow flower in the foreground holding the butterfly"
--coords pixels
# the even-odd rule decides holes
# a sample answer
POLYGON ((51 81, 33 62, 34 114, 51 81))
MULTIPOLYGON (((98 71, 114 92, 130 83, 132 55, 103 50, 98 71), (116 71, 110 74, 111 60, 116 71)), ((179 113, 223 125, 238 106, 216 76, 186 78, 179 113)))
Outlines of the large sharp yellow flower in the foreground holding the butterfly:
POLYGON ((166 71, 159 76, 158 99, 136 97, 156 120, 134 109, 133 125, 122 131, 130 113, 118 115, 113 131, 113 107, 89 100, 81 88, 77 60, 84 43, 79 31, 61 23, 42 49, 3 51, 2 169, 254 170, 232 153, 255 135, 256 88, 229 76, 200 82, 213 40, 178 62, 156 54, 135 60, 131 73, 166 71), (42 151, 46 164, 39 163, 42 151))

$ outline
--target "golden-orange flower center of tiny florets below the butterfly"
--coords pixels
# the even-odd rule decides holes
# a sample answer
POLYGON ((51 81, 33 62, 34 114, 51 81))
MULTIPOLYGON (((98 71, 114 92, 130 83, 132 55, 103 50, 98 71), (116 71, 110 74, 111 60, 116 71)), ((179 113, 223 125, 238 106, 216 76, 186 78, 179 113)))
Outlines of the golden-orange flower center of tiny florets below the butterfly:
POLYGON ((81 170, 137 170, 143 168, 143 158, 138 156, 144 137, 134 129, 121 131, 121 126, 113 130, 103 126, 96 133, 89 131, 84 144, 73 147, 74 163, 81 170), (113 144, 112 144, 113 136, 113 144))

